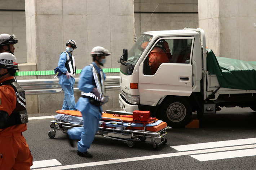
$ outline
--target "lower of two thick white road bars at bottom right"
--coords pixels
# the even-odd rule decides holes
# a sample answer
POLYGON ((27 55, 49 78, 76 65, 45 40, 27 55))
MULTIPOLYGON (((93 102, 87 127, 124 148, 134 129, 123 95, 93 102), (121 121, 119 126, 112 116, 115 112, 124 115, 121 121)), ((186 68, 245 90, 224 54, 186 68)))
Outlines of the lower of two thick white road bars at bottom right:
POLYGON ((199 161, 210 161, 210 160, 227 159, 227 158, 244 157, 244 156, 255 156, 255 155, 256 155, 256 149, 247 149, 247 150, 238 150, 238 151, 206 153, 206 154, 190 155, 190 156, 199 161))

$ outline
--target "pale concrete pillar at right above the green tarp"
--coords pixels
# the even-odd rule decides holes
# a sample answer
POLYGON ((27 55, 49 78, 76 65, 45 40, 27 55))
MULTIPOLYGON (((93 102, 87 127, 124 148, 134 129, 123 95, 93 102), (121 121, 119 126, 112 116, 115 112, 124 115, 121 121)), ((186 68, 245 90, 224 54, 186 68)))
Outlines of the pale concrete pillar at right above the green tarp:
POLYGON ((216 56, 255 61, 255 0, 198 0, 199 28, 216 56))

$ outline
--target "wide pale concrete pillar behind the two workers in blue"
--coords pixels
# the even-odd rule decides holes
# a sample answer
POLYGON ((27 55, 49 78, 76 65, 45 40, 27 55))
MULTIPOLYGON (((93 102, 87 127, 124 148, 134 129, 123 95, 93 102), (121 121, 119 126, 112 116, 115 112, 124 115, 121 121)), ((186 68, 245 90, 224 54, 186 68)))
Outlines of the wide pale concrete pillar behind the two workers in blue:
MULTIPOLYGON (((76 69, 92 62, 94 46, 111 52, 104 68, 119 68, 123 48, 134 43, 133 0, 25 0, 25 7, 27 63, 36 63, 37 70, 56 68, 69 39, 77 43, 76 69)), ((116 92, 107 95, 112 103, 106 107, 119 107, 116 92)), ((76 101, 79 96, 75 94, 76 101)), ((62 102, 63 94, 39 95, 38 112, 55 112, 62 102)))

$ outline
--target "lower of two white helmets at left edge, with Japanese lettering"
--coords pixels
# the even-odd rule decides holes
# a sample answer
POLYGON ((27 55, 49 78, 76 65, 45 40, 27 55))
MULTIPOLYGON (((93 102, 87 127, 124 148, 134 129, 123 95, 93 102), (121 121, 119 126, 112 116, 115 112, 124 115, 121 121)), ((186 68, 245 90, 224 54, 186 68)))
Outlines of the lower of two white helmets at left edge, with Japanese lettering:
POLYGON ((0 53, 0 68, 18 70, 19 67, 16 57, 9 52, 0 53))

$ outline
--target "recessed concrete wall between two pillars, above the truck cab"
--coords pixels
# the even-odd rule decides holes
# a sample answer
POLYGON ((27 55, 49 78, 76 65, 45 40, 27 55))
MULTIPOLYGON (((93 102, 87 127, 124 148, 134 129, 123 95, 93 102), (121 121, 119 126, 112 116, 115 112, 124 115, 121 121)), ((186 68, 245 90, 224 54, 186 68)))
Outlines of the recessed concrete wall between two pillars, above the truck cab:
POLYGON ((134 17, 137 37, 146 31, 198 28, 198 0, 134 0, 134 17))

